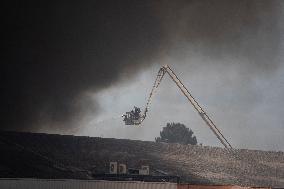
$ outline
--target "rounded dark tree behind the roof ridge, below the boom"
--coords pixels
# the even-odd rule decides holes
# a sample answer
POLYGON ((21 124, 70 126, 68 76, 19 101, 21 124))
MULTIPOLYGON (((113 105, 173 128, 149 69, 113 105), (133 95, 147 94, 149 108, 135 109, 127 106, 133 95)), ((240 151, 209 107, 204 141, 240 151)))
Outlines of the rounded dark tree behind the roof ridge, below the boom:
POLYGON ((193 131, 181 123, 167 123, 160 132, 160 137, 155 138, 156 142, 197 144, 193 131))

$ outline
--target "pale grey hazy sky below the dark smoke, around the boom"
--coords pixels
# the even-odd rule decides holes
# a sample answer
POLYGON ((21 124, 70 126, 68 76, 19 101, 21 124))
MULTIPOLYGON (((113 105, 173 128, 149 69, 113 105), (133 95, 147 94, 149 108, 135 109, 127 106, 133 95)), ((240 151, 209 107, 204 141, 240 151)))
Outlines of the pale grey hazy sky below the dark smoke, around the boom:
MULTIPOLYGON (((186 66, 173 69, 231 144, 236 148, 283 151, 284 67, 272 76, 251 76, 235 66, 196 69, 198 61, 189 59, 186 66)), ((200 143, 221 146, 169 77, 160 85, 142 126, 124 125, 120 117, 123 112, 134 105, 145 108, 158 68, 158 64, 152 66, 127 85, 98 93, 100 114, 74 130, 76 134, 154 140, 167 122, 181 122, 194 131, 200 143)))

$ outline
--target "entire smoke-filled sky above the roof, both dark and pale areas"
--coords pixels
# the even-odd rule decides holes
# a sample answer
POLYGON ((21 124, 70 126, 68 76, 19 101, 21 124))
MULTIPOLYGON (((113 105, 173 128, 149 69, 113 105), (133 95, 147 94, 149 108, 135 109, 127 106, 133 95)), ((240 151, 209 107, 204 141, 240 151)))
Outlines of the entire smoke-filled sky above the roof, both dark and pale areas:
POLYGON ((4 14, 1 129, 154 140, 167 122, 215 136, 165 77, 169 64, 236 148, 284 150, 281 1, 12 2, 4 14))

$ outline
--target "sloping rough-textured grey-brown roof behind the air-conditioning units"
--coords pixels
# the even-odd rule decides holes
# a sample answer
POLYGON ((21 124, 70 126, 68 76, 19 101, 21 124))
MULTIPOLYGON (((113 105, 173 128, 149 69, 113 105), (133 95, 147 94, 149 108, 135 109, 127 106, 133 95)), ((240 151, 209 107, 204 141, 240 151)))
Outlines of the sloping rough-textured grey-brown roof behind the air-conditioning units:
POLYGON ((91 179, 118 161, 194 184, 284 187, 283 152, 4 131, 0 149, 2 178, 91 179))

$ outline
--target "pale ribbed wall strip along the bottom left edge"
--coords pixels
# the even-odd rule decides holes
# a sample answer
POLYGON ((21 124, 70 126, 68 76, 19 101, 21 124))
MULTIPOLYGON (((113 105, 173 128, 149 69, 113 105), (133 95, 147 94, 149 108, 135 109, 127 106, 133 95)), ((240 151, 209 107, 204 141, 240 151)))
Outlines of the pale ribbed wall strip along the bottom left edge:
POLYGON ((175 183, 96 180, 0 179, 1 189, 176 189, 175 183))

